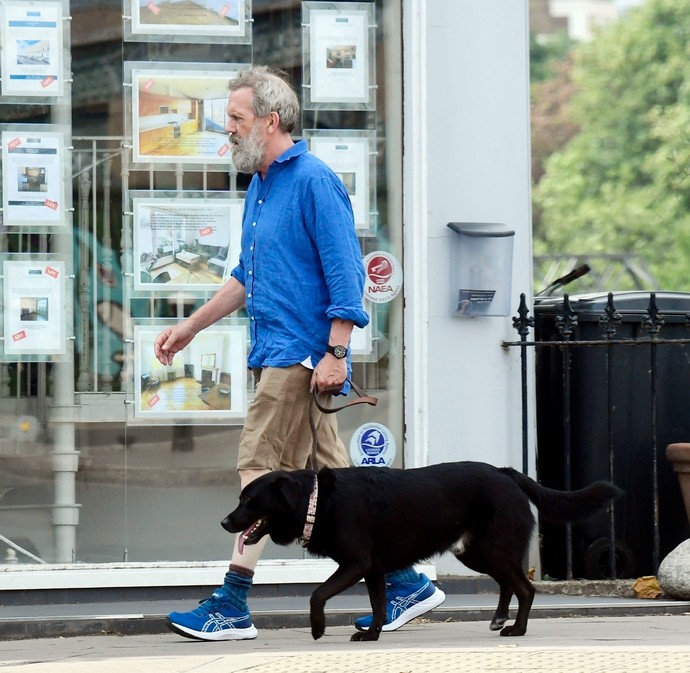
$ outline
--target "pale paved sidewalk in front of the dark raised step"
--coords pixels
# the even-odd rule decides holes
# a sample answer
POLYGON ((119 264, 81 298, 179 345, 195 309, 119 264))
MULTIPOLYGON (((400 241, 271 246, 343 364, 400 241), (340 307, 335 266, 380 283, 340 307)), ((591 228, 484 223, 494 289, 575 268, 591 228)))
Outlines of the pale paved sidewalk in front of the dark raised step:
POLYGON ((172 633, 0 642, 3 673, 682 673, 690 616, 533 619, 521 638, 487 622, 411 622, 375 643, 352 627, 262 629, 255 640, 202 643, 172 633))

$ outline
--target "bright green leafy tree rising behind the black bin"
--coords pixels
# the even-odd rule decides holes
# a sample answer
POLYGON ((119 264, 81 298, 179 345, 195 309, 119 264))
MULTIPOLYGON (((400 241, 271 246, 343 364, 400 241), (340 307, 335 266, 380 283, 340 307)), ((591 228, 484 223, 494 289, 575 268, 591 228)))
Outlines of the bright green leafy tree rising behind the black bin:
POLYGON ((580 131, 535 186, 535 254, 640 255, 690 291, 690 0, 647 0, 572 57, 580 131))

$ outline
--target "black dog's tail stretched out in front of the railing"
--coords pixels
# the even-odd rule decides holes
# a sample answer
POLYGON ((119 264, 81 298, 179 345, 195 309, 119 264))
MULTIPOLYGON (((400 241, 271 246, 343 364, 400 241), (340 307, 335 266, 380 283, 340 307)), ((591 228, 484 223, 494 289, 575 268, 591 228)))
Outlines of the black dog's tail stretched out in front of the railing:
POLYGON ((579 491, 556 491, 538 484, 511 467, 501 468, 527 497, 534 503, 539 513, 552 523, 581 521, 596 514, 623 491, 608 481, 598 481, 579 491))

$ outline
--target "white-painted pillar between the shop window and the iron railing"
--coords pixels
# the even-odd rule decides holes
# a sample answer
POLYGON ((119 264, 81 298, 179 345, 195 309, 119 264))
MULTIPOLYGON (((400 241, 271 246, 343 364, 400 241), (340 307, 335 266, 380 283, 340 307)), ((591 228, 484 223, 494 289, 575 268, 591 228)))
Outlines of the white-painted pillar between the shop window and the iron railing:
POLYGON ((451 315, 447 223, 513 229, 511 315, 531 303, 527 5, 403 0, 408 467, 522 464, 520 354, 501 347, 518 335, 511 317, 451 315))

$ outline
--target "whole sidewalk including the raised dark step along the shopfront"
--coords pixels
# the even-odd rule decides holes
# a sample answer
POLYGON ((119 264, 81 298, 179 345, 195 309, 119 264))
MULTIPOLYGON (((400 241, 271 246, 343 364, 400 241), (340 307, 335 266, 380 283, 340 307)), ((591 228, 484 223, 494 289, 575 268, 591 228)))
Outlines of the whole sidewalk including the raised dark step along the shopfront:
MULTIPOLYGON (((449 589, 452 587, 445 587, 449 589)), ((585 587, 586 589, 586 587, 585 587)), ((538 593, 527 635, 489 630, 493 593, 447 591, 443 605, 375 643, 351 643, 365 595, 327 605, 318 641, 307 596, 251 601, 255 640, 203 643, 165 629, 179 599, 4 606, 2 673, 458 673, 690 671, 690 602, 538 593), (127 637, 117 637, 117 636, 127 637), (51 636, 51 637, 42 637, 51 636), (65 637, 73 636, 73 637, 65 637), (19 638, 19 639, 16 639, 19 638)), ((514 616, 514 610, 513 610, 514 616)))

